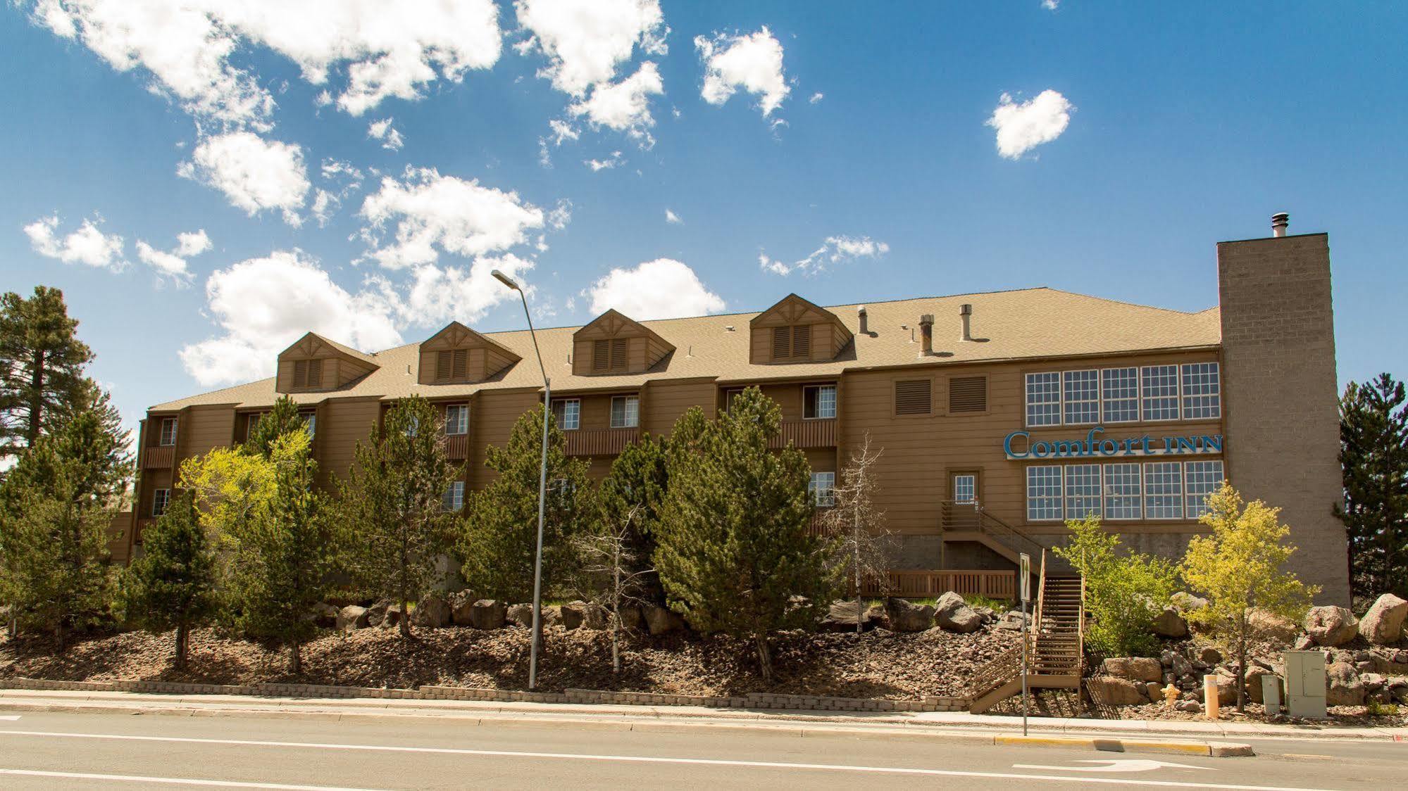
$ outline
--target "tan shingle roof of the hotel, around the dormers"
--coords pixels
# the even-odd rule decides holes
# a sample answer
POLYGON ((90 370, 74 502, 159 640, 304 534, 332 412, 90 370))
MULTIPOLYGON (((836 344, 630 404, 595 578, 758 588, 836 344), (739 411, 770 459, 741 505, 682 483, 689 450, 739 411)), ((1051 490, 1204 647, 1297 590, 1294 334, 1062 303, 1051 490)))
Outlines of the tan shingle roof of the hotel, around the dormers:
MULTIPOLYGON (((707 377, 719 381, 762 381, 838 376, 843 370, 887 366, 949 366, 1029 357, 1112 355, 1122 352, 1209 348, 1221 343, 1218 308, 1184 312, 1119 303, 1059 291, 1022 289, 983 294, 919 297, 887 303, 869 303, 869 335, 860 335, 856 308, 836 305, 826 310, 856 334, 853 345, 834 360, 818 363, 752 365, 748 362, 749 325, 758 312, 705 315, 642 321, 641 324, 674 345, 655 367, 645 373, 621 376, 573 376, 569 355, 572 334, 579 327, 538 331, 543 363, 555 393, 638 387, 652 379, 707 377), (972 304, 974 341, 962 342, 959 305, 972 304), (934 314, 935 356, 918 355, 918 319, 934 314), (731 329, 729 329, 731 328, 731 329), (912 334, 911 334, 912 329, 912 334), (914 338, 914 341, 911 341, 914 338)), ((328 397, 401 398, 421 394, 431 398, 469 396, 479 390, 541 387, 528 331, 486 332, 522 360, 491 381, 474 384, 420 384, 415 366, 417 348, 408 343, 365 355, 380 366, 351 387, 324 393, 296 393, 293 400, 313 404, 328 397)), ((358 352, 359 353, 359 352, 358 352)), ((168 401, 153 411, 180 410, 201 404, 266 407, 279 397, 275 380, 262 379, 211 393, 168 401)))

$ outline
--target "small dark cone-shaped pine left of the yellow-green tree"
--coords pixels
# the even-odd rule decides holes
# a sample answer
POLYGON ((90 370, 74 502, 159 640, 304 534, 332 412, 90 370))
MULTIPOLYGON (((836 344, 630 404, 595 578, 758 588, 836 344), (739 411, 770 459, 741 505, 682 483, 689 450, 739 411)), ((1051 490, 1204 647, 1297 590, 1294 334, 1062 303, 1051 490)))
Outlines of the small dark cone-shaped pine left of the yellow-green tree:
POLYGON ((127 616, 151 632, 176 629, 176 670, 186 670, 190 632, 220 609, 215 548, 191 493, 177 495, 142 533, 142 556, 122 577, 127 616))

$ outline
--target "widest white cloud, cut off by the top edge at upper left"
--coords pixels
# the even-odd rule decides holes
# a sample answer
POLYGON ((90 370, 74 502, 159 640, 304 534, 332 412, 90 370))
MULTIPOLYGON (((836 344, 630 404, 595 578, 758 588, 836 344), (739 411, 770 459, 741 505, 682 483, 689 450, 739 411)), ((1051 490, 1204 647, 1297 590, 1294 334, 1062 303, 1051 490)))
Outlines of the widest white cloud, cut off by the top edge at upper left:
POLYGON ((436 79, 489 69, 501 49, 493 0, 41 0, 31 17, 120 72, 146 69, 152 89, 187 111, 259 131, 270 128, 273 96, 231 65, 252 46, 293 61, 311 84, 345 65, 337 103, 352 115, 387 97, 420 99, 436 79))

